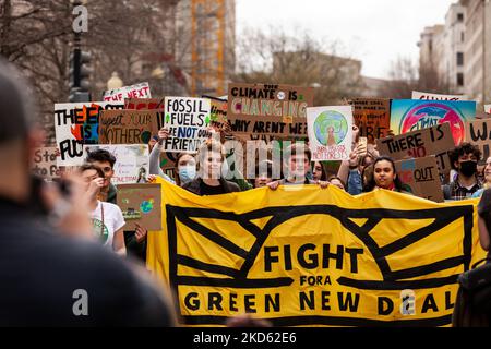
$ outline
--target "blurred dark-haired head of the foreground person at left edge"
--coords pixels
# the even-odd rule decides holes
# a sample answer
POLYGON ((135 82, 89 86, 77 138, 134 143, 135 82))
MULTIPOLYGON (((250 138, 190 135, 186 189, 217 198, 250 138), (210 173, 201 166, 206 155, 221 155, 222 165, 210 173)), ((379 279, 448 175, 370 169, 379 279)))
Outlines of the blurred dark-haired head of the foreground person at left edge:
POLYGON ((11 63, 0 58, 0 193, 25 202, 31 192, 31 160, 44 132, 29 87, 11 63))

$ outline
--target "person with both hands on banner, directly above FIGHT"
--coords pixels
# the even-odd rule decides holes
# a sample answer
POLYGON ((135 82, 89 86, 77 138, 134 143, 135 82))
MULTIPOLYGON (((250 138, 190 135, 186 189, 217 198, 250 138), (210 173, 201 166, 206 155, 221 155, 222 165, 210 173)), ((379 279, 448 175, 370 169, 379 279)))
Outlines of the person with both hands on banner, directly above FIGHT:
POLYGON ((267 186, 272 190, 276 190, 280 184, 319 184, 322 189, 327 188, 330 184, 327 181, 314 181, 307 177, 310 170, 311 158, 312 154, 306 144, 294 143, 289 145, 283 154, 286 167, 285 178, 267 183, 267 186))

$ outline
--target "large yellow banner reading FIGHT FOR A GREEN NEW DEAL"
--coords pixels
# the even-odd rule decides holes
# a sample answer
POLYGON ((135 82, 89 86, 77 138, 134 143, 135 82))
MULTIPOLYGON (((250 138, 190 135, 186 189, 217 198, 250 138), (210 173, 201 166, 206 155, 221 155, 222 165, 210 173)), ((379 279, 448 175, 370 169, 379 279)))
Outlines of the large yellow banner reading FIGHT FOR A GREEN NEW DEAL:
POLYGON ((200 197, 159 182, 147 265, 188 325, 246 312, 277 326, 450 325, 458 274, 484 257, 477 200, 334 185, 200 197))

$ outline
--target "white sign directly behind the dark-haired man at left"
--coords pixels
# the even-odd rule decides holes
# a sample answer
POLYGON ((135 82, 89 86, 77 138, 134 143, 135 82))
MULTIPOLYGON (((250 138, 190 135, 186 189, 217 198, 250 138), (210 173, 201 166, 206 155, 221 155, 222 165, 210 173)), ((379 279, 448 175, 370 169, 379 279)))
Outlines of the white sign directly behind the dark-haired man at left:
POLYGON ((84 146, 84 158, 96 149, 106 149, 116 157, 115 174, 111 182, 115 185, 139 183, 145 181, 149 173, 148 146, 146 144, 106 144, 84 146))

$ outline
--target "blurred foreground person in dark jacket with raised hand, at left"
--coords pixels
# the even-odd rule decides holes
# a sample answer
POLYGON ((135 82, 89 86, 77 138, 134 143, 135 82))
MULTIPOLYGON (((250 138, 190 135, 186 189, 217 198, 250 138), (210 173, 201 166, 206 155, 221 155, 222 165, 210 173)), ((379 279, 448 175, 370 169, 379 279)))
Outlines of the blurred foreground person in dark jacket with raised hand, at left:
POLYGON ((64 194, 57 185, 40 188, 45 182, 32 185, 39 129, 28 91, 20 72, 0 60, 0 326, 175 325, 165 290, 80 238, 91 233, 91 221, 76 174, 64 194), (33 197, 49 197, 46 215, 32 210, 33 197))

